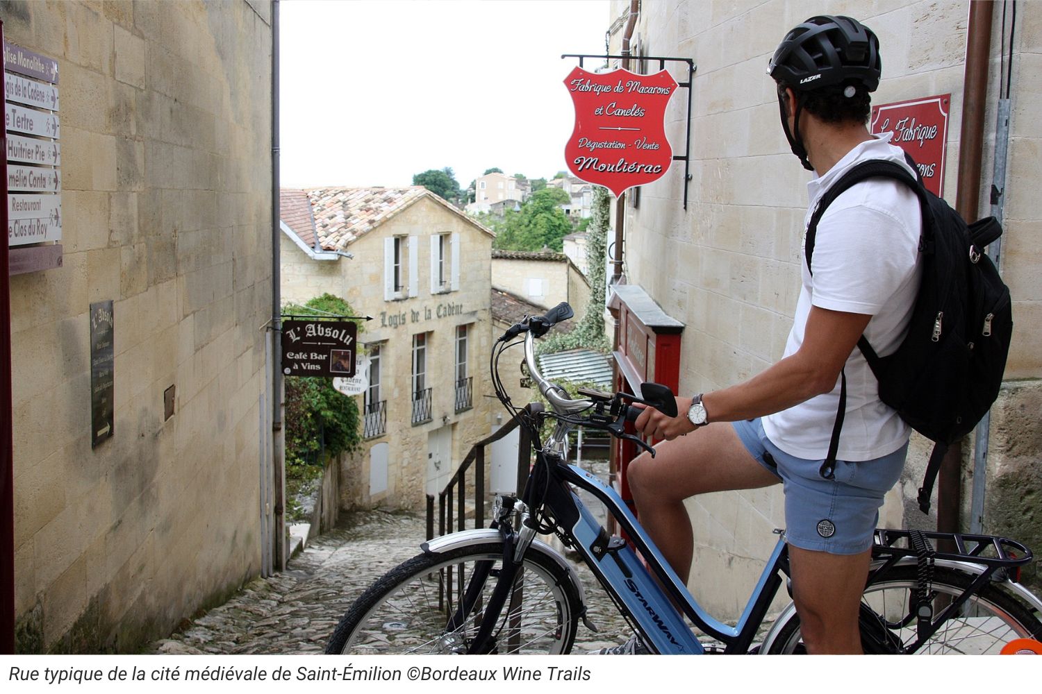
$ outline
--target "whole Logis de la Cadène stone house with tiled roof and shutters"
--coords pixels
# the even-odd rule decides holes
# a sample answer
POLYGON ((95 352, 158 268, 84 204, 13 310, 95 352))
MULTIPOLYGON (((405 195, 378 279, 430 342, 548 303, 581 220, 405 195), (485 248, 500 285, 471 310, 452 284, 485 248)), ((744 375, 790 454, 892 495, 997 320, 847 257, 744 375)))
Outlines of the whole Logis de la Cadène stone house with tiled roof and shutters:
POLYGON ((341 505, 422 509, 493 422, 494 234, 420 186, 281 191, 283 302, 325 291, 370 315, 363 449, 341 505), (477 378, 475 378, 477 377, 477 378))

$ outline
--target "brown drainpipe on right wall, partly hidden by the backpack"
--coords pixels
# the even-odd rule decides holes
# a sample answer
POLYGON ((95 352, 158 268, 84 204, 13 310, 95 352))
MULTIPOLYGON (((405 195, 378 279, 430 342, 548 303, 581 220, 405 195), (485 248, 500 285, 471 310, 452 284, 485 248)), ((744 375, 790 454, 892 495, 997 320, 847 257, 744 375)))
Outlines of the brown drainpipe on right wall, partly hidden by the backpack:
MULTIPOLYGON (((966 72, 963 91, 963 125, 959 135, 959 181, 956 210, 975 222, 981 202, 981 159, 984 152, 985 104, 988 96, 988 60, 991 51, 991 0, 970 2, 966 31, 966 72)), ((941 462, 937 491, 937 530, 960 531, 963 446, 951 445, 941 462)))

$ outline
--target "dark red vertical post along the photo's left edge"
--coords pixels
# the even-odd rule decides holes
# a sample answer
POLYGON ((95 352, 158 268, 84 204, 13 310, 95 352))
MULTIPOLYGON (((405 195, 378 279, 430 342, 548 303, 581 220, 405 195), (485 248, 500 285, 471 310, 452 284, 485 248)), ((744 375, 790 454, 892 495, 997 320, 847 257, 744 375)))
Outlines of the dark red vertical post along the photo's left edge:
MULTIPOLYGON (((0 43, 3 22, 0 21, 0 43)), ((0 151, 7 133, 0 132, 0 151)), ((7 177, 0 176, 0 196, 7 199, 7 177)), ((7 205, 0 205, 7 228, 7 205)), ((0 653, 15 654, 15 452, 10 403, 10 275, 7 242, 0 243, 0 653)))

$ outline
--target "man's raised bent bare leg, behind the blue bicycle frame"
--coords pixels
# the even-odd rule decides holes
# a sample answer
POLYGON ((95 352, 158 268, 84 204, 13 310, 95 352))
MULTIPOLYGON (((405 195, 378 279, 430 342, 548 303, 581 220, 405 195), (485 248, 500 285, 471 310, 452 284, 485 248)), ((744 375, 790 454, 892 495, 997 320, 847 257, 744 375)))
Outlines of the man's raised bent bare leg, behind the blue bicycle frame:
POLYGON ((694 539, 684 499, 780 482, 749 455, 725 421, 660 443, 654 458, 642 454, 629 464, 626 480, 641 525, 685 583, 691 572, 694 539))

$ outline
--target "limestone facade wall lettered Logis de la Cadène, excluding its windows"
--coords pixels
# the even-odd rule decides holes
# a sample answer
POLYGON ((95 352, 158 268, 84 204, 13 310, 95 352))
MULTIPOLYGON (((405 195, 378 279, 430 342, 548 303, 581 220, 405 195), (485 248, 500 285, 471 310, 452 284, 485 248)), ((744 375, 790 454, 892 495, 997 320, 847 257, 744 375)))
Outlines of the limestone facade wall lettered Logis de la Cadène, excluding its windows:
MULTIPOLYGON (((364 441, 341 466, 341 500, 345 508, 408 508, 422 511, 428 490, 428 457, 439 436, 448 437, 448 461, 439 475, 463 460, 471 444, 488 435, 493 422, 493 396, 488 379, 492 349, 490 258, 492 235, 430 198, 421 198, 368 232, 348 249, 352 260, 340 261, 345 297, 373 320, 358 339, 380 344, 381 397, 387 401, 387 435, 364 441), (460 234, 460 288, 430 293, 429 236, 460 234), (416 236, 419 243, 419 293, 401 301, 383 300, 384 238, 416 236), (468 375, 472 377, 472 409, 455 411, 455 331, 469 326, 468 375), (412 423, 413 336, 427 337, 426 374, 431 388, 431 421, 412 423), (372 484, 372 449, 384 446, 386 488, 372 484)), ((358 396, 359 406, 362 397, 358 396)), ((450 473, 450 472, 448 472, 450 473)), ((432 484, 432 483, 431 483, 432 484)))

